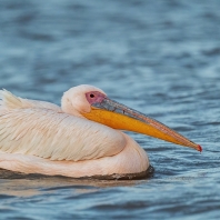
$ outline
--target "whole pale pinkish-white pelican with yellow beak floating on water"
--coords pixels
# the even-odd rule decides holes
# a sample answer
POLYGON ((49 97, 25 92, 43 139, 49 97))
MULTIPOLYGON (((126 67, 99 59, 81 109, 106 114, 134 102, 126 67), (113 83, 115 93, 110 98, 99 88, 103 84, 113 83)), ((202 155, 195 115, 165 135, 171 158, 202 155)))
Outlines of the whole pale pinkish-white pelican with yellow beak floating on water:
POLYGON ((1 90, 0 168, 72 178, 144 174, 146 151, 121 130, 202 150, 93 86, 69 89, 61 107, 1 90))

